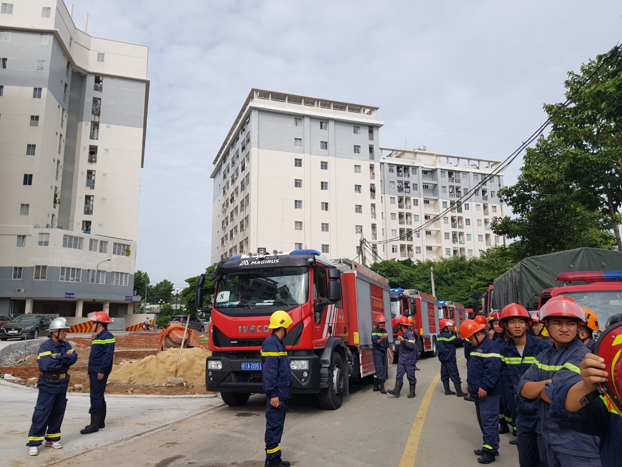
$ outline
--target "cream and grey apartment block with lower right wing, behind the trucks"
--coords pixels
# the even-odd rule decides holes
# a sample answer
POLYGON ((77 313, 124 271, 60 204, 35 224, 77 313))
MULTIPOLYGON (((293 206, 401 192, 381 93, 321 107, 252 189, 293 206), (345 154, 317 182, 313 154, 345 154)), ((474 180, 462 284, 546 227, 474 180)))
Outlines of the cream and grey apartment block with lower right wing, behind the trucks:
POLYGON ((475 191, 498 163, 382 149, 377 112, 251 90, 214 159, 212 262, 258 247, 425 260, 503 242, 490 232, 503 174, 475 191))

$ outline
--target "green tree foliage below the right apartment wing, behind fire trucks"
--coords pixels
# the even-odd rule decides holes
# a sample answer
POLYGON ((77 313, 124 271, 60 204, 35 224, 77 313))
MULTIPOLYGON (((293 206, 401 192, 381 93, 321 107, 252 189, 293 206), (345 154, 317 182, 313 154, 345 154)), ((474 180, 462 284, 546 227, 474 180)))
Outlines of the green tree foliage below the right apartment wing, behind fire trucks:
POLYGON ((493 247, 479 258, 455 256, 413 263, 410 259, 388 260, 371 265, 371 269, 389 280, 392 288, 416 289, 432 293, 430 267, 434 267, 435 294, 439 300, 455 301, 470 307, 473 292, 488 288, 491 280, 514 262, 506 247, 493 247))

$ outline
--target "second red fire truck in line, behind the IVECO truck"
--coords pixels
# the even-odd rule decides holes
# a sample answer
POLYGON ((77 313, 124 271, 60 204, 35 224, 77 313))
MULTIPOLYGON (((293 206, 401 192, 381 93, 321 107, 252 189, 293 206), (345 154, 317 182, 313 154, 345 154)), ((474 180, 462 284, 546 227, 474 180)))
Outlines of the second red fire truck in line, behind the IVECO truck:
MULTIPOLYGON (((437 313, 436 298, 419 290, 404 290, 401 288, 391 289, 391 317, 393 333, 399 330, 397 317, 400 315, 412 318, 412 332, 417 336, 419 355, 427 352, 429 356, 436 357, 436 337, 439 331, 439 315, 437 313)), ((399 346, 396 348, 394 361, 397 361, 399 346)))

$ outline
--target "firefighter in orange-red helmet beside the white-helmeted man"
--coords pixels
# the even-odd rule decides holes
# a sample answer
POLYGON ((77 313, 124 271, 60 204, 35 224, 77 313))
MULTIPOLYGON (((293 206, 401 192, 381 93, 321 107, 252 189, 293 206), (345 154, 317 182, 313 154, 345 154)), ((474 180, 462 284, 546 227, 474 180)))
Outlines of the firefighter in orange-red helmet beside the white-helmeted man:
POLYGON ((96 311, 91 317, 95 339, 91 342, 91 354, 88 357, 88 380, 91 385, 91 423, 86 425, 80 433, 88 435, 95 433, 106 426, 106 399, 104 391, 108 382, 108 375, 113 370, 114 336, 108 331, 108 324, 112 320, 105 311, 96 311))

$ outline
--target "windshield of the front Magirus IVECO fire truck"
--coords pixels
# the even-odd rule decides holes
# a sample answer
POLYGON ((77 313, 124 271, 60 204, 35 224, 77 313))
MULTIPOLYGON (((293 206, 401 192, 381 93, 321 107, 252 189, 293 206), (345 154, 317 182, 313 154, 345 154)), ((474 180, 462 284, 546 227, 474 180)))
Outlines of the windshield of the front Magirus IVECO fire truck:
POLYGON ((309 268, 269 268, 223 275, 216 308, 298 306, 309 300, 309 268))

